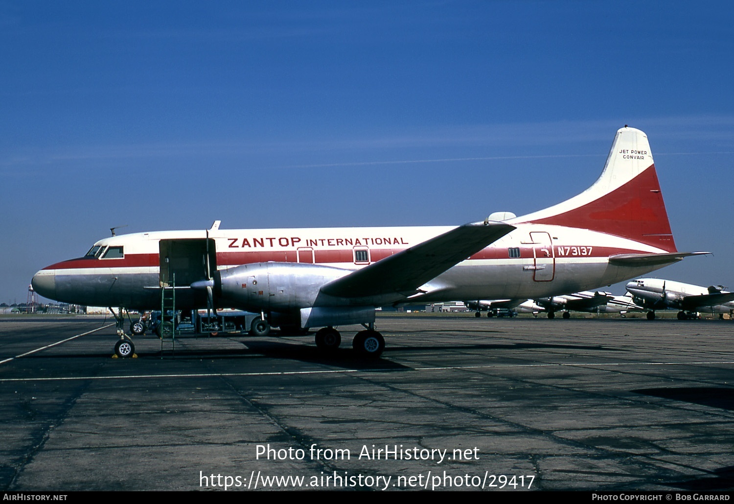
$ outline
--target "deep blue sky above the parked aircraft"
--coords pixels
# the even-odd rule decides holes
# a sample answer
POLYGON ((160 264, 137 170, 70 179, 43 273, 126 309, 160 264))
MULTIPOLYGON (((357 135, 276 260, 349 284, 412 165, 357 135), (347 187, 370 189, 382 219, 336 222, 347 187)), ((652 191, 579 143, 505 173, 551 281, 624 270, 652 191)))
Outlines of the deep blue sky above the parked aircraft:
POLYGON ((714 253, 655 275, 734 288, 733 26, 725 1, 0 1, 0 302, 112 226, 521 215, 625 124, 678 249, 714 253))

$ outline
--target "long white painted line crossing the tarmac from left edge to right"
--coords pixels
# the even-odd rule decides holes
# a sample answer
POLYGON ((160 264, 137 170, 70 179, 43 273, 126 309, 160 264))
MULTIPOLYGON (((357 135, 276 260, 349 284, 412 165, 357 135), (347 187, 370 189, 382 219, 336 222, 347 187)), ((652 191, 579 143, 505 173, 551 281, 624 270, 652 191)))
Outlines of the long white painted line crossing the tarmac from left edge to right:
MULTIPOLYGON (((91 331, 90 331, 91 332, 91 331)), ((89 334, 89 333, 85 333, 89 334)), ((79 336, 84 336, 79 334, 79 336)), ((74 336, 76 337, 76 336, 74 336)), ((65 340, 66 341, 66 340, 65 340)), ((60 343, 60 342, 59 342, 60 343)), ((701 364, 734 364, 734 361, 696 361, 696 362, 591 362, 579 364, 495 364, 486 366, 454 366, 454 367, 415 367, 411 370, 313 370, 313 371, 269 371, 269 372, 198 372, 179 375, 112 375, 112 376, 73 376, 67 378, 0 378, 0 383, 10 381, 70 381, 70 380, 123 380, 137 378, 216 378, 220 376, 287 376, 287 375, 324 375, 351 372, 406 372, 406 371, 446 371, 446 370, 481 370, 510 367, 587 367, 587 366, 697 366, 701 364)))

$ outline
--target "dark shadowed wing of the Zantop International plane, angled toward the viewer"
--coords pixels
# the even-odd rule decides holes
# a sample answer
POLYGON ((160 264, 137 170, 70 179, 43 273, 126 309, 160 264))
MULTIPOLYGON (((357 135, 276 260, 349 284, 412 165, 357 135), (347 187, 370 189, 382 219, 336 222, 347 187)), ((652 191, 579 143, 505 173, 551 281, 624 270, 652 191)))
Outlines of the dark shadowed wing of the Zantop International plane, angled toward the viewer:
POLYGON ((493 221, 465 224, 330 281, 321 287, 321 292, 341 298, 363 298, 395 292, 413 295, 427 281, 513 229, 515 226, 493 221))

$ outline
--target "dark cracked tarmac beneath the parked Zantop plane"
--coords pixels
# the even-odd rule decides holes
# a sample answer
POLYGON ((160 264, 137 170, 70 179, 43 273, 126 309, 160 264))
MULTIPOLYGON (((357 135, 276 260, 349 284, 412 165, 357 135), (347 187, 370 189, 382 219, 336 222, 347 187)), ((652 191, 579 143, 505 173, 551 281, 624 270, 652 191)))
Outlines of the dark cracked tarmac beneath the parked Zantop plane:
POLYGON ((134 339, 0 318, 0 487, 734 489, 734 322, 379 315, 311 336, 134 339), (51 346, 49 346, 51 345, 51 346))

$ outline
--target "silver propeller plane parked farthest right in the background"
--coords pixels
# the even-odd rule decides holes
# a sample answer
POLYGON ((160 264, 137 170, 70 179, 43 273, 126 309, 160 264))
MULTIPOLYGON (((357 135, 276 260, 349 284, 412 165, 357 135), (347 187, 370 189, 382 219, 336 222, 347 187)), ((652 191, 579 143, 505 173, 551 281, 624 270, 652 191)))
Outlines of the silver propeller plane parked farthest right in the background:
POLYGON ((655 310, 678 309, 678 320, 697 318, 698 312, 729 313, 734 310, 734 292, 721 285, 702 287, 661 278, 638 278, 626 286, 635 303, 649 309, 647 320, 655 320, 655 310))

